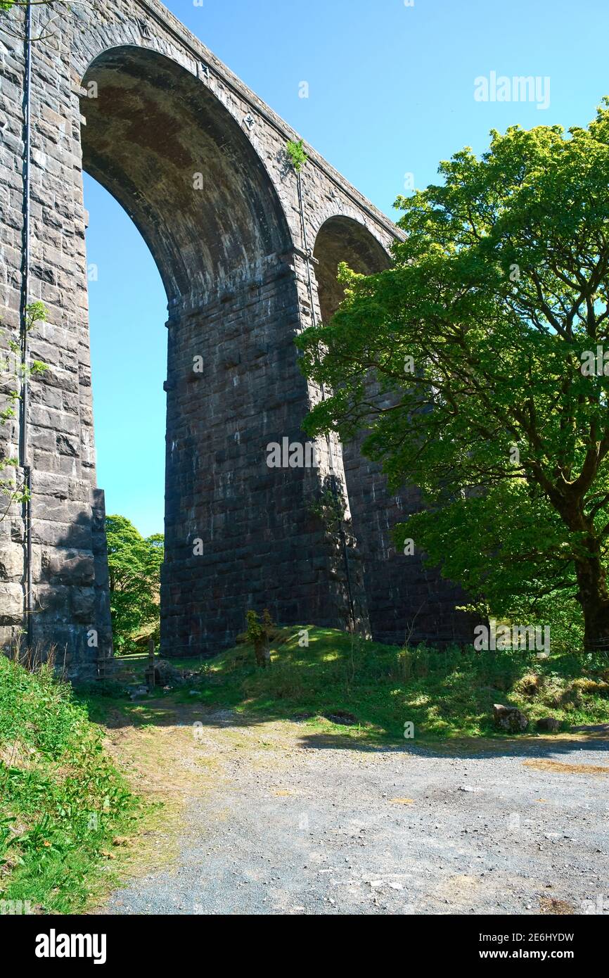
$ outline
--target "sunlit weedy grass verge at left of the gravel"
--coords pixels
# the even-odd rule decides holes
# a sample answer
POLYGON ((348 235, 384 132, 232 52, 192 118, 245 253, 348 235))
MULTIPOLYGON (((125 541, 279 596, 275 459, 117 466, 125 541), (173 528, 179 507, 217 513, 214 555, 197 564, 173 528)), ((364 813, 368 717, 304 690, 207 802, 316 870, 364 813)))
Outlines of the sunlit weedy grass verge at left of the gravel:
POLYGON ((0 655, 0 899, 81 911, 140 814, 71 688, 0 655))

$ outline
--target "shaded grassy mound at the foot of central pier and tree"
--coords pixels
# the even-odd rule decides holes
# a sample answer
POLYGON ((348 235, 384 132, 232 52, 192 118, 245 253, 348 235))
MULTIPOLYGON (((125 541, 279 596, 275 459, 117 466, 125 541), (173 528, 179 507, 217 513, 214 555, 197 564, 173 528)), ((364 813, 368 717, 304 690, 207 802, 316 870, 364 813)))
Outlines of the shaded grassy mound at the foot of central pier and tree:
MULTIPOLYGON (((197 687, 201 701, 273 718, 306 715, 318 727, 340 726, 341 733, 370 738, 403 738, 407 722, 417 739, 505 735, 493 725, 497 702, 524 710, 529 733, 546 716, 563 730, 609 722, 609 662, 603 656, 538 659, 524 650, 398 648, 314 627, 305 648, 299 631, 278 630, 269 669, 255 666, 250 645, 207 662, 197 687), (341 713, 356 723, 326 719, 341 713)), ((190 689, 179 689, 174 698, 190 696, 190 689)))

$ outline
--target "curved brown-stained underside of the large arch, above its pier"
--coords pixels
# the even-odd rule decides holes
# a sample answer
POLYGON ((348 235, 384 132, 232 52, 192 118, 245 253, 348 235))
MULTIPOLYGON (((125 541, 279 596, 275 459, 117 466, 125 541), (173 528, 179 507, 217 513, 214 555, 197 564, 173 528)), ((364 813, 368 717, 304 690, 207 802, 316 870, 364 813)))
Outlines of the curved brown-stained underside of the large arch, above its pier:
POLYGON ((138 227, 170 309, 251 277, 265 256, 287 249, 283 207, 262 160, 194 74, 125 45, 98 55, 82 86, 83 169, 138 227))

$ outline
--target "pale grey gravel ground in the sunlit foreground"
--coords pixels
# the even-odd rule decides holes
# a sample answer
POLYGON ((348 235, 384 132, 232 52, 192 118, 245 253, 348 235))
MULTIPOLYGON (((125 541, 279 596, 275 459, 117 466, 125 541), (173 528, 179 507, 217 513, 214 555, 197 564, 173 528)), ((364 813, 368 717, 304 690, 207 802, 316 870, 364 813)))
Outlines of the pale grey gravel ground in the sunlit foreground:
POLYGON ((179 859, 103 912, 609 913, 606 739, 370 749, 197 715, 163 731, 179 859))

